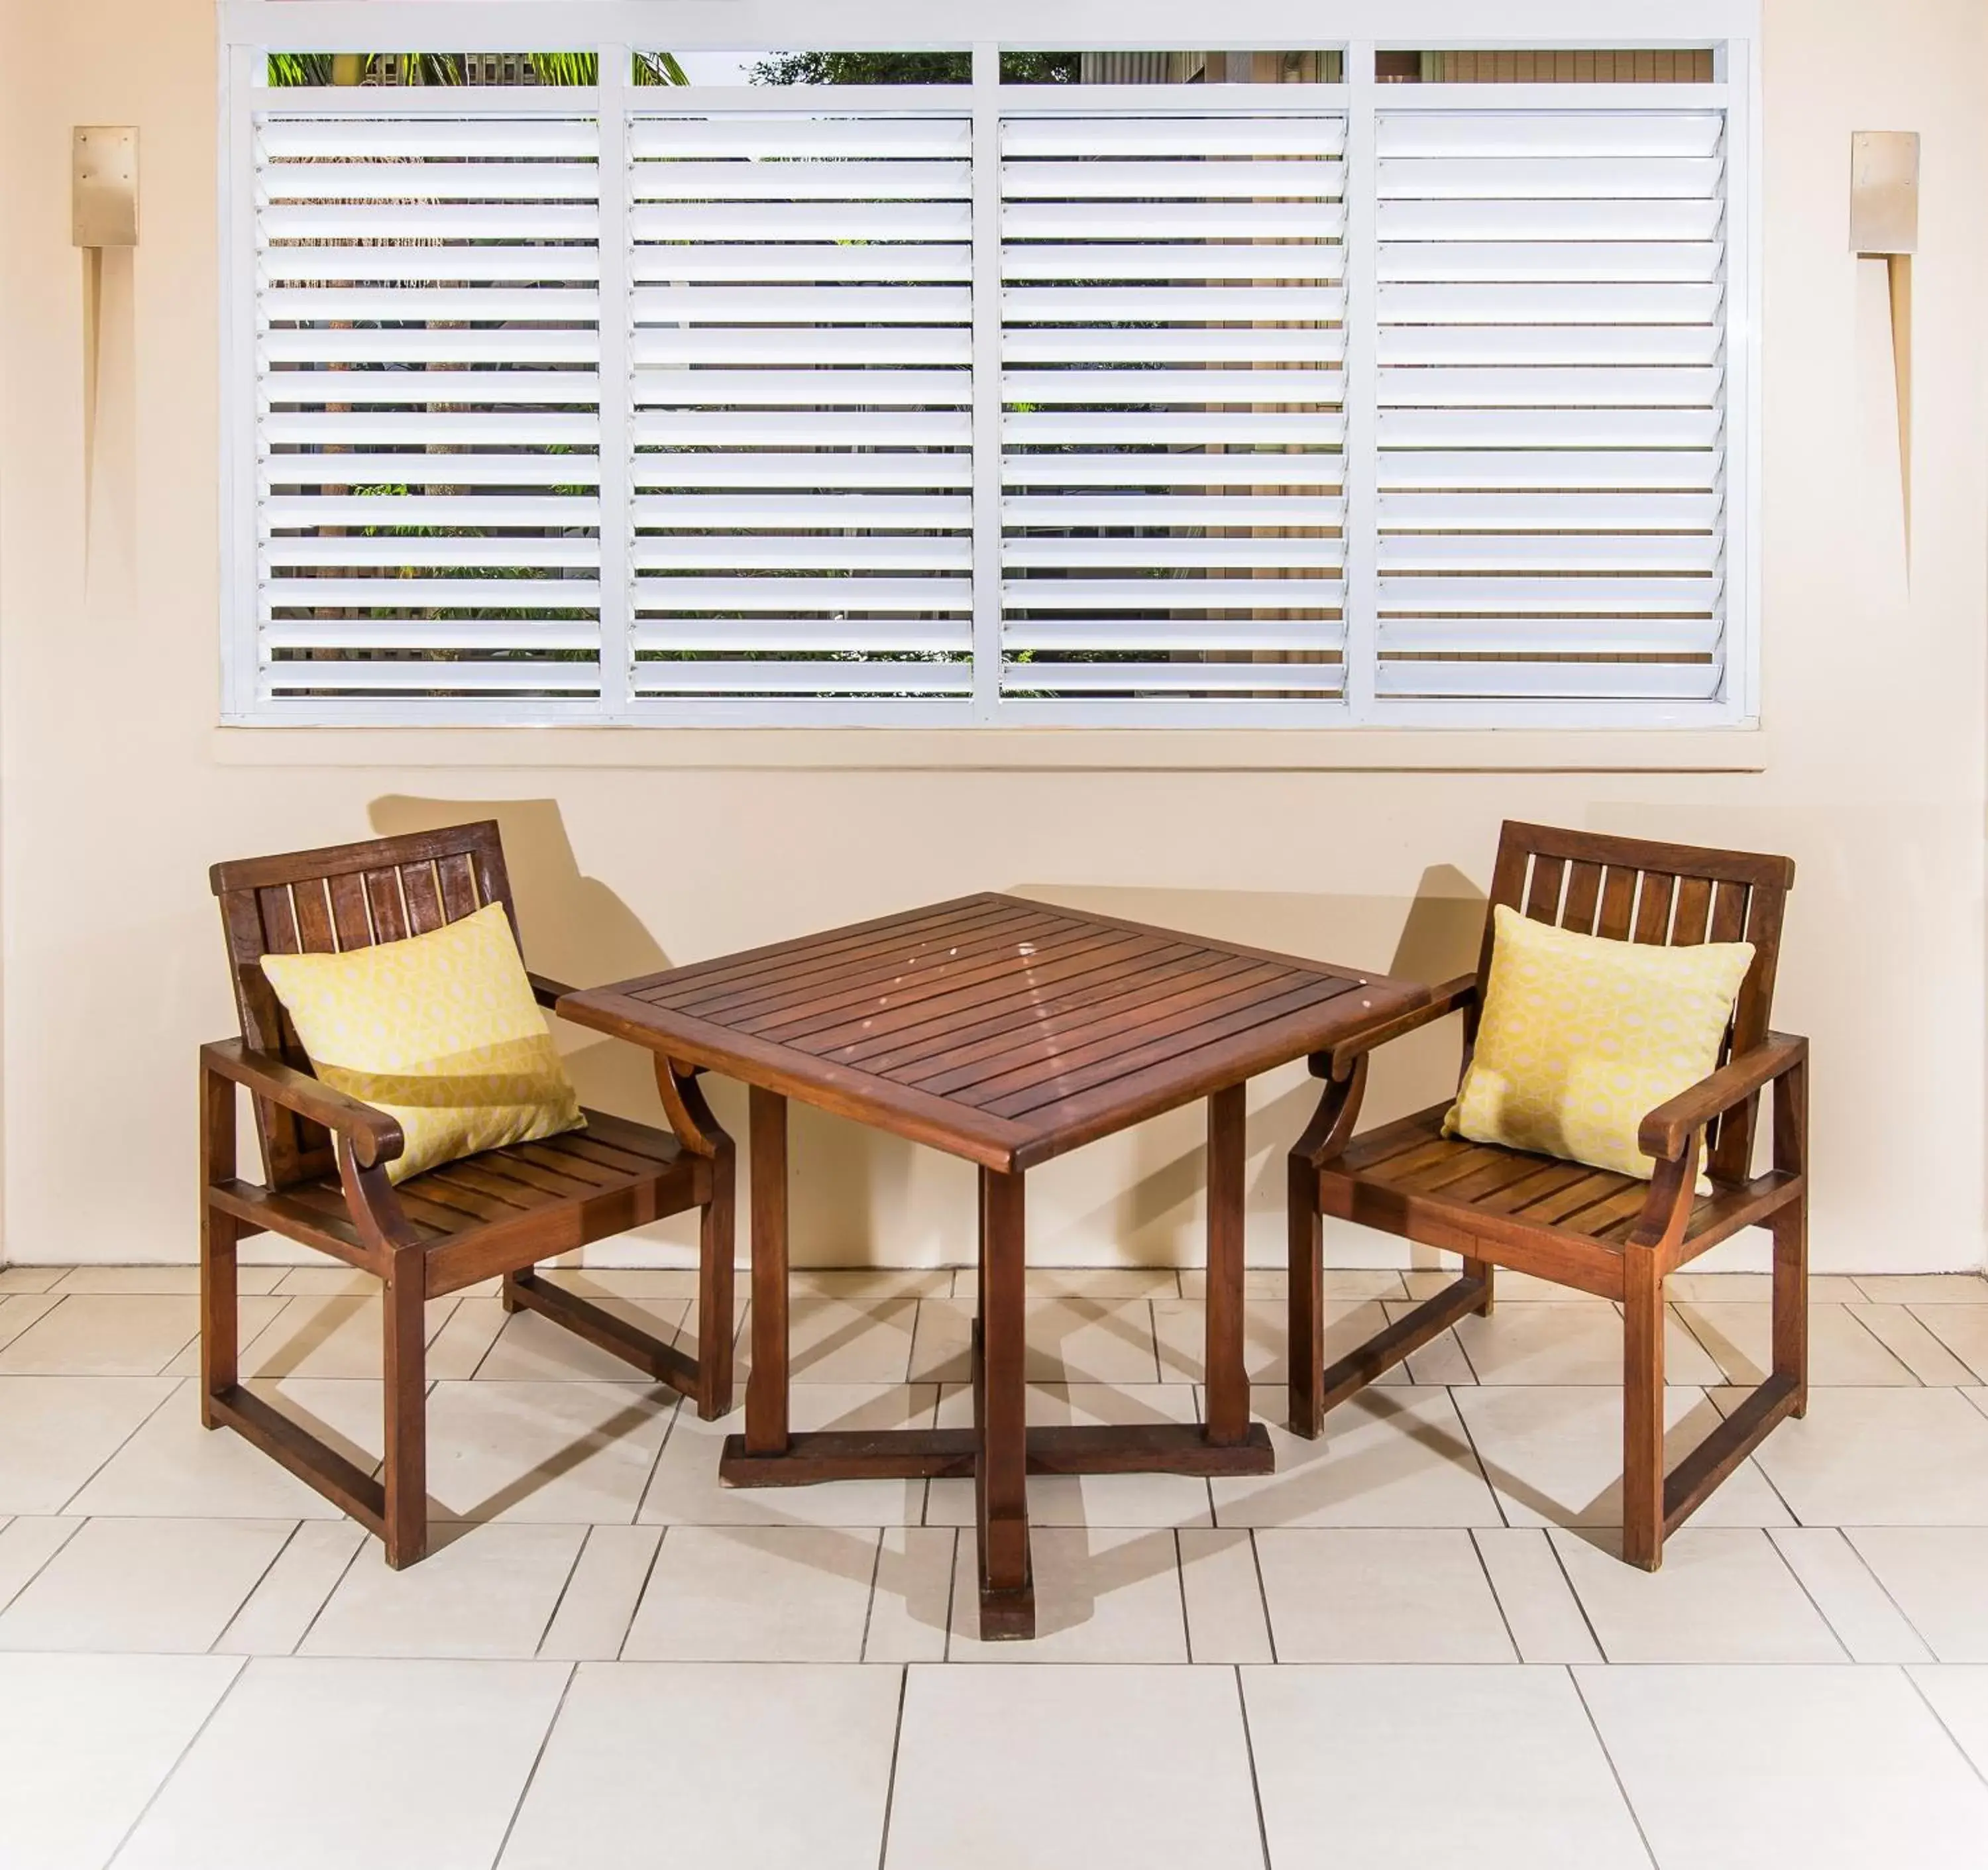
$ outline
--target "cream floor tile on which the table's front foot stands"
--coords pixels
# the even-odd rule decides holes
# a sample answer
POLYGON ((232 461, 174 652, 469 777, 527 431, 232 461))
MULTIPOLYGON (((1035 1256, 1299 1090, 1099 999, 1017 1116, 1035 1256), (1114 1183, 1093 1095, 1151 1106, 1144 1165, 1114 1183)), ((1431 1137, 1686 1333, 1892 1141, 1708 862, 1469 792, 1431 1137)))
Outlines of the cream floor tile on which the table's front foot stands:
POLYGON ((950 1661, 1187 1661, 1187 1616, 1173 1534, 1030 1528, 1036 1639, 980 1641, 974 1538, 960 1534, 952 1568, 950 1661))

